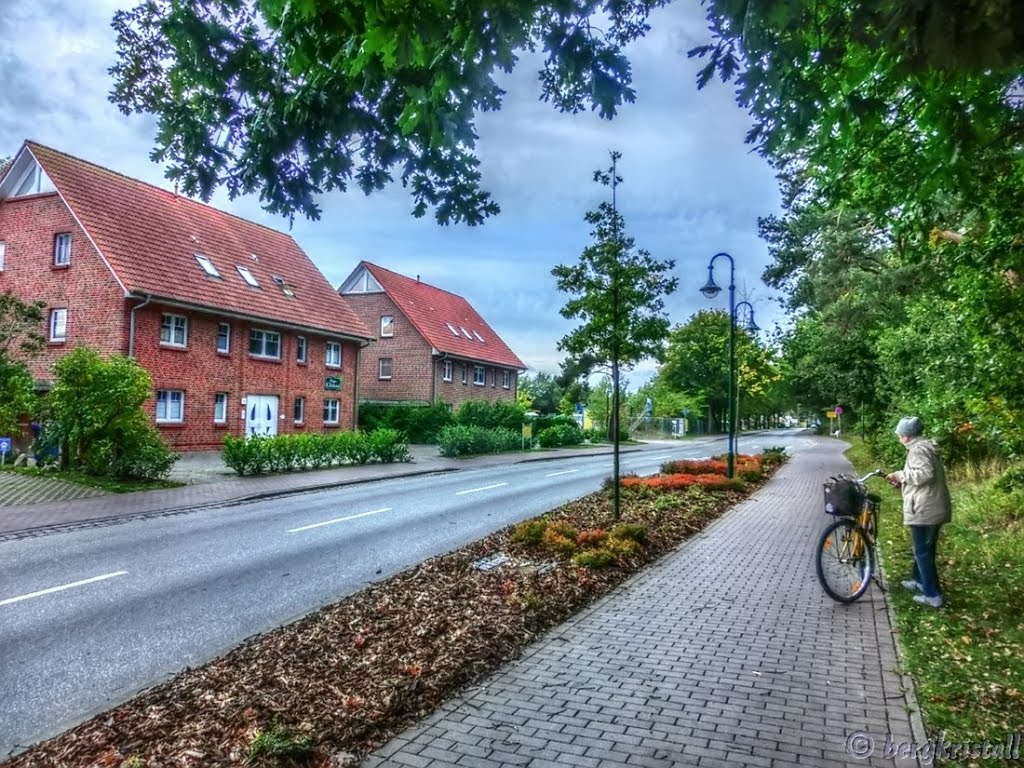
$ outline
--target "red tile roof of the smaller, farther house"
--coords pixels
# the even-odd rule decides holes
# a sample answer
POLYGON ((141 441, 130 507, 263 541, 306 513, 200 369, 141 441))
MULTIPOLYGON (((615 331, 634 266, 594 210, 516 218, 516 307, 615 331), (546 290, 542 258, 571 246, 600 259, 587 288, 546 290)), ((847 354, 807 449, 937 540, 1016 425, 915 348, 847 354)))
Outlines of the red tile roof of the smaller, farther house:
POLYGON ((462 296, 368 261, 360 262, 360 265, 380 283, 423 338, 438 352, 497 366, 526 368, 462 296), (469 334, 469 338, 463 331, 469 334))

